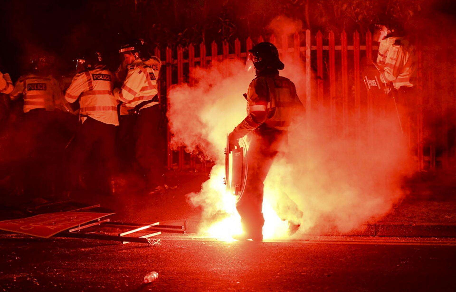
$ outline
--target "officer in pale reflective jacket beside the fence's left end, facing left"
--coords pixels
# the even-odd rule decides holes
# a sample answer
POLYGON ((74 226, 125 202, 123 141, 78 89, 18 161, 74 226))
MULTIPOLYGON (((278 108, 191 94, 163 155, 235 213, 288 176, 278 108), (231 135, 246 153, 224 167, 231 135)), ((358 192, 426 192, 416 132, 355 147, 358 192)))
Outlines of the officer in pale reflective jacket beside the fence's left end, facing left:
POLYGON ((135 128, 131 129, 135 133, 135 158, 147 177, 149 188, 153 189, 163 184, 165 170, 157 83, 161 61, 148 56, 141 39, 122 45, 119 53, 128 71, 122 86, 114 89, 114 96, 123 102, 121 115, 138 115, 135 128))

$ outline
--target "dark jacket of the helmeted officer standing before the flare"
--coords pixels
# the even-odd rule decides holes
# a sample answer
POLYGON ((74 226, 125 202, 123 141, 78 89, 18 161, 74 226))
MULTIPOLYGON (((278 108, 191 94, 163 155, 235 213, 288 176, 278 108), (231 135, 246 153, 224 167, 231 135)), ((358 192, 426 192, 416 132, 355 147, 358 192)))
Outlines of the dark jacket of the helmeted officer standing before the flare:
POLYGON ((260 125, 287 130, 299 108, 302 104, 290 79, 279 76, 277 70, 259 72, 247 92, 247 117, 234 128, 233 134, 242 138, 260 125))

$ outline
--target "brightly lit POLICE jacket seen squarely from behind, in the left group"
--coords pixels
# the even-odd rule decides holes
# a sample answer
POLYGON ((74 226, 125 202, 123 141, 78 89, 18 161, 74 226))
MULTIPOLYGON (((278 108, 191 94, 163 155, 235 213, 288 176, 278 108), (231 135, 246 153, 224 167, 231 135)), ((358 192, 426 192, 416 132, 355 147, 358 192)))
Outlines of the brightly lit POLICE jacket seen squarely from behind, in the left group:
POLYGON ((65 92, 67 102, 79 99, 79 119, 87 117, 106 124, 119 125, 117 101, 113 95, 114 74, 104 67, 85 71, 73 78, 65 92))

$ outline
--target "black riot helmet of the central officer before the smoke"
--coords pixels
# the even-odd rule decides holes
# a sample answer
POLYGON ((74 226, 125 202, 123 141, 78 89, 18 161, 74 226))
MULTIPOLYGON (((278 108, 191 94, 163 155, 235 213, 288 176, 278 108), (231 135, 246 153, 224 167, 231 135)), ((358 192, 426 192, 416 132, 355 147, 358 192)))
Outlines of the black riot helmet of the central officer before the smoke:
POLYGON ((263 41, 256 44, 249 52, 253 56, 255 69, 263 71, 268 68, 282 70, 285 65, 280 61, 279 51, 270 42, 263 41))

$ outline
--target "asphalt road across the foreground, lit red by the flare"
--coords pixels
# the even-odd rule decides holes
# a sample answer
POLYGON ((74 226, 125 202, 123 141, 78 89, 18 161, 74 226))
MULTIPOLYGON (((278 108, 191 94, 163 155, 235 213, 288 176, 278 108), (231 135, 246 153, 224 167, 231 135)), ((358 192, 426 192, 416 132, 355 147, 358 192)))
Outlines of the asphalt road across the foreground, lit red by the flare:
POLYGON ((0 291, 455 291, 456 242, 316 237, 161 245, 0 236, 0 291), (159 278, 142 284, 145 274, 159 278))

